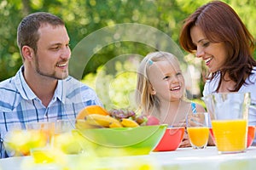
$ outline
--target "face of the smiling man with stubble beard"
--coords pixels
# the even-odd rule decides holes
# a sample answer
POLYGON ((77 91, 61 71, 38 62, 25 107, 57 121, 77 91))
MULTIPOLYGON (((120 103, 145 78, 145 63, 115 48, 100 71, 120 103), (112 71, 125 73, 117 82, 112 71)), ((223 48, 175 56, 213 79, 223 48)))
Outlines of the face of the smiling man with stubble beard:
POLYGON ((67 78, 71 51, 66 27, 45 24, 38 33, 38 51, 33 63, 35 71, 43 77, 67 78))

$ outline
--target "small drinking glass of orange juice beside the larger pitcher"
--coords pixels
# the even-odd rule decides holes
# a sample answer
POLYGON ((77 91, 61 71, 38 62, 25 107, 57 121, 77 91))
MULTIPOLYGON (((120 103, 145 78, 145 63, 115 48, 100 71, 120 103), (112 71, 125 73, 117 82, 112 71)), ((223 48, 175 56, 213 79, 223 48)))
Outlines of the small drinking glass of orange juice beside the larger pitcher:
POLYGON ((186 118, 189 141, 193 149, 204 149, 209 139, 210 116, 207 112, 189 113, 186 118))

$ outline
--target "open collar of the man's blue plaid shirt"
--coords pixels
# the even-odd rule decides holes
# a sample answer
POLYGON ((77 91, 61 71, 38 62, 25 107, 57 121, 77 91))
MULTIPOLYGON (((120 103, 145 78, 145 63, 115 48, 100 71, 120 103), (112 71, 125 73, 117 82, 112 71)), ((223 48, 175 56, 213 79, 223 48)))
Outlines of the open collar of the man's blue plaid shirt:
MULTIPOLYGON (((29 88, 28 84, 25 81, 25 78, 23 76, 24 71, 24 65, 20 67, 20 70, 15 75, 14 81, 15 86, 20 92, 20 95, 23 99, 38 99, 38 96, 33 93, 32 89, 29 88)), ((66 90, 64 90, 65 81, 58 80, 57 87, 55 89, 54 99, 59 99, 64 104, 65 103, 65 96, 66 96, 66 90)))

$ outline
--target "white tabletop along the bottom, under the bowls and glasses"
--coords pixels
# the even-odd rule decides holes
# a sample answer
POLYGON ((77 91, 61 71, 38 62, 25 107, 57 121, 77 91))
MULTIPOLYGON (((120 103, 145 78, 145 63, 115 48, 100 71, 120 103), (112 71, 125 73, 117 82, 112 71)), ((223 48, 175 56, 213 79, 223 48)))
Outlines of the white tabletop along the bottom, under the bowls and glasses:
POLYGON ((256 147, 244 153, 219 155, 216 147, 205 150, 178 148, 175 151, 152 152, 146 156, 121 156, 95 158, 90 156, 67 156, 60 164, 35 164, 31 156, 0 160, 0 169, 220 169, 255 170, 256 147))

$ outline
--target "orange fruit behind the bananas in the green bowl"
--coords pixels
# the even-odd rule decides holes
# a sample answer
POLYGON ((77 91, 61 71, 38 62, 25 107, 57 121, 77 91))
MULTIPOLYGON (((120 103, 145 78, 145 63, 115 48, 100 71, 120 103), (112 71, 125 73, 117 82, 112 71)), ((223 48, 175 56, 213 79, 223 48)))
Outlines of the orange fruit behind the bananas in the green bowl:
POLYGON ((102 108, 102 106, 100 105, 88 105, 86 107, 84 107, 84 109, 82 111, 79 112, 77 119, 83 119, 84 117, 90 114, 99 114, 99 115, 104 115, 104 116, 108 116, 109 113, 107 110, 105 110, 104 108, 102 108))

